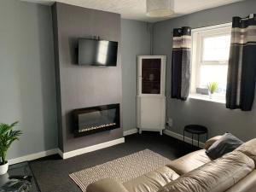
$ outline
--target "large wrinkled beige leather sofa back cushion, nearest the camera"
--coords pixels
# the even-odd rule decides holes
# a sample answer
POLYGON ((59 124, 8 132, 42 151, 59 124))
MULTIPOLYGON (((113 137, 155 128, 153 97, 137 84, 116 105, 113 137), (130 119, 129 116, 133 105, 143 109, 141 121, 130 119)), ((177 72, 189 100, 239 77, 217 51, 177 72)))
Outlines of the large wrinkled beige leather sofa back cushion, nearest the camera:
POLYGON ((253 171, 246 154, 233 151, 167 183, 158 192, 223 192, 253 171))

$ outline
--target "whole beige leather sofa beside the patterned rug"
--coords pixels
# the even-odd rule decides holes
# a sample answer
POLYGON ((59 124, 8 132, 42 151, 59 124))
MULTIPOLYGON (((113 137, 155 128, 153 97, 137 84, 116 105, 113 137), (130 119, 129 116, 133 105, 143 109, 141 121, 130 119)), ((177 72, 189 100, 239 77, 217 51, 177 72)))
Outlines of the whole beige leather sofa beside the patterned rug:
POLYGON ((126 183, 105 178, 91 183, 87 192, 256 192, 256 139, 211 160, 205 151, 218 138, 154 172, 126 183))

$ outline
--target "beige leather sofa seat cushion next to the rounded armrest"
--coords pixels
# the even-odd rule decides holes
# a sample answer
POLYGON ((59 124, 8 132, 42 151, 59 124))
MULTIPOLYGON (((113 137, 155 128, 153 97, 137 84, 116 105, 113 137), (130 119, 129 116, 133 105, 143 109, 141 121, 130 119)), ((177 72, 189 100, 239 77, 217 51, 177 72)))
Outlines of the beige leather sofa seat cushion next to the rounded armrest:
POLYGON ((123 183, 129 192, 153 192, 177 179, 179 175, 167 166, 123 183))

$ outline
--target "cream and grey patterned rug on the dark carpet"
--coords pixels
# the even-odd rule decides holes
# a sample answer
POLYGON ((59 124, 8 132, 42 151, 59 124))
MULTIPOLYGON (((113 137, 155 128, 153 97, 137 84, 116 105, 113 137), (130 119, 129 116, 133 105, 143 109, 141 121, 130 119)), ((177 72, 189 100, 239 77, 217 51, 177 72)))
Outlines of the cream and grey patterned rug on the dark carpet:
POLYGON ((160 154, 145 149, 102 165, 73 172, 69 177, 79 185, 82 191, 86 192, 87 186, 99 179, 111 177, 121 183, 125 183, 132 178, 139 177, 161 166, 165 166, 170 161, 160 154))

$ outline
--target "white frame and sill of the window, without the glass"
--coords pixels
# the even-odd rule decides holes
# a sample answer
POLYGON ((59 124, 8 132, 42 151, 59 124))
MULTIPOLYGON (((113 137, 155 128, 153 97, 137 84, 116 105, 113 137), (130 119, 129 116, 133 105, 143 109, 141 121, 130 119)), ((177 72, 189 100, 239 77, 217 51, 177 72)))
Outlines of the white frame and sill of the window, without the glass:
POLYGON ((203 51, 203 38, 219 36, 221 34, 231 33, 232 23, 225 23, 216 26, 207 26, 192 29, 192 76, 191 76, 191 84, 190 84, 190 98, 207 100, 211 102, 222 102, 225 103, 224 96, 215 97, 213 99, 208 99, 208 96, 204 96, 196 93, 196 88, 200 86, 201 75, 200 68, 203 65, 224 65, 228 64, 228 61, 202 61, 202 51, 203 51))

